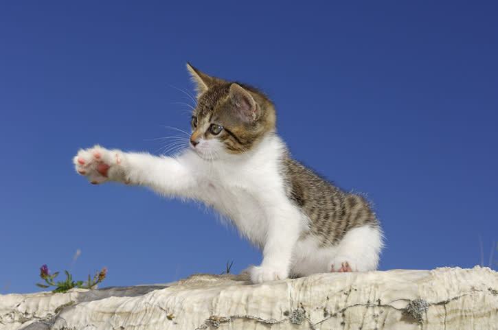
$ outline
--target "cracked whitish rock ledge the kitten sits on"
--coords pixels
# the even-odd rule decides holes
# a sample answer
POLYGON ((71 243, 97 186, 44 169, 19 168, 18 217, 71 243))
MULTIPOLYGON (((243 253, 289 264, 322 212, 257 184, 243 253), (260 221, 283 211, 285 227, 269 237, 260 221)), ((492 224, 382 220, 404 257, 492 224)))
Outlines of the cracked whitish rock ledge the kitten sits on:
POLYGON ((168 285, 0 295, 0 329, 498 329, 498 273, 438 268, 315 274, 251 285, 194 274, 168 285))

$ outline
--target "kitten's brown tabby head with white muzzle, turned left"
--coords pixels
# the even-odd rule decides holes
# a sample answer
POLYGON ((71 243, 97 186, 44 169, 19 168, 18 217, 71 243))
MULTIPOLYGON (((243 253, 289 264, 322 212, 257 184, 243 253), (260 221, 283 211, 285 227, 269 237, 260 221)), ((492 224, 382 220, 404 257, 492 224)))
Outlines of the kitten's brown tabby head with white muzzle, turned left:
POLYGON ((275 130, 275 108, 257 89, 207 75, 187 64, 196 84, 190 146, 205 159, 242 154, 275 130))

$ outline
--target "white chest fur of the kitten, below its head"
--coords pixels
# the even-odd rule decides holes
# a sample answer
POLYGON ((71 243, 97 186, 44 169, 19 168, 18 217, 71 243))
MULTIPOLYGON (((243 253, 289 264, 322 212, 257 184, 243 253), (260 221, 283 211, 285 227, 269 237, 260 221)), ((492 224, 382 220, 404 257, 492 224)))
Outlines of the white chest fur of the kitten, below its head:
MULTIPOLYGON (((253 244, 264 247, 272 209, 295 209, 285 196, 280 159, 284 145, 276 136, 242 155, 205 161, 192 150, 182 155, 197 182, 192 197, 228 217, 253 244)), ((296 210, 287 216, 296 215, 296 210)), ((293 219, 291 221, 298 221, 293 219)))

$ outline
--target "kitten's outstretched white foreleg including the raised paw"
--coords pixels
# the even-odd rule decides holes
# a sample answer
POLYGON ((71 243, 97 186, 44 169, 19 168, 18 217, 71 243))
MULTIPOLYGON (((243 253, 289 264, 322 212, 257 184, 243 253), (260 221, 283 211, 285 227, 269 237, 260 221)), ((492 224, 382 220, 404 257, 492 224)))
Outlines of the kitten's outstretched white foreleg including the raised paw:
POLYGON ((107 150, 95 145, 74 157, 76 171, 92 184, 107 181, 146 185, 159 193, 190 197, 195 186, 190 169, 181 158, 107 150))

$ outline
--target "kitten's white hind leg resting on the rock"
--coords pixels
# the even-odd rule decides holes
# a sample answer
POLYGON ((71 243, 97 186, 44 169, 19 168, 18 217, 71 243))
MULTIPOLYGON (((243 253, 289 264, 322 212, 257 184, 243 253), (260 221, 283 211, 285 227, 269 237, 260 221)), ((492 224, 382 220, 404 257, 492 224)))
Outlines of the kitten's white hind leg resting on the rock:
POLYGON ((361 226, 351 229, 337 246, 330 261, 329 272, 365 272, 376 270, 383 247, 378 226, 361 226))

